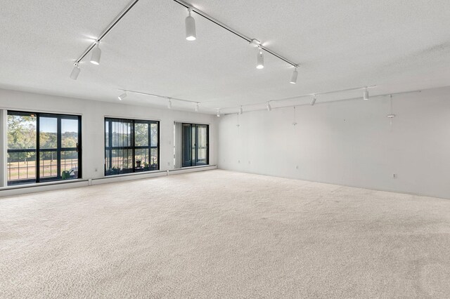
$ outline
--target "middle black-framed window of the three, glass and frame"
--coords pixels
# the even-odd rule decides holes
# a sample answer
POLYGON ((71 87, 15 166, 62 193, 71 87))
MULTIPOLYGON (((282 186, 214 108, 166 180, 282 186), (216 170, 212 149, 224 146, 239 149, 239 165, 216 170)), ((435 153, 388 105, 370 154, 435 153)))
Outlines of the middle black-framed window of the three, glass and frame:
POLYGON ((155 171, 159 121, 105 118, 105 175, 155 171))

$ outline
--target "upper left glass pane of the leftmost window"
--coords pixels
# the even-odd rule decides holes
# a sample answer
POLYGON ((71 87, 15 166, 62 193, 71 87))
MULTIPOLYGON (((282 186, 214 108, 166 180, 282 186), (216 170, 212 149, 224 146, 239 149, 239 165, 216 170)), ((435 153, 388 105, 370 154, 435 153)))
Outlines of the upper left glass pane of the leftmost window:
POLYGON ((8 150, 36 149, 36 116, 8 115, 8 150))

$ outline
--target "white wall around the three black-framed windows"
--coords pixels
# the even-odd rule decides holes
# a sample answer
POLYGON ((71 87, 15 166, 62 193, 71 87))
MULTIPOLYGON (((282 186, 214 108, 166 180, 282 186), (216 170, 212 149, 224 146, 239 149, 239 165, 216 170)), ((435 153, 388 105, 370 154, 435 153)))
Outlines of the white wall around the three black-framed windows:
POLYGON ((123 104, 99 102, 5 89, 0 89, 0 109, 82 115, 84 179, 104 176, 105 116, 159 120, 160 169, 162 171, 174 169, 174 121, 210 124, 210 165, 217 164, 217 120, 209 114, 127 105, 126 100, 123 104))

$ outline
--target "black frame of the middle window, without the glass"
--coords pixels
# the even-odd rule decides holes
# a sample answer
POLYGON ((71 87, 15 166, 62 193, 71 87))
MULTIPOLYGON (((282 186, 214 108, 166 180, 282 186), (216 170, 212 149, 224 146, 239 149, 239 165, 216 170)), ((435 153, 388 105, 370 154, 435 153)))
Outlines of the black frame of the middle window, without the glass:
POLYGON ((104 144, 105 144, 105 164, 104 164, 104 175, 110 176, 110 175, 123 175, 126 173, 141 173, 141 172, 149 172, 149 171, 159 171, 160 170, 160 121, 154 121, 150 119, 122 119, 119 117, 105 117, 104 119, 104 144), (113 121, 118 122, 127 122, 131 124, 131 145, 127 147, 113 147, 113 121), (108 146, 106 145, 106 124, 108 123, 108 146), (148 145, 144 146, 136 146, 136 138, 135 138, 135 125, 136 124, 148 124, 148 145), (151 145, 151 124, 156 124, 158 126, 158 141, 156 146, 151 145), (158 163, 156 167, 150 167, 148 170, 145 168, 138 169, 136 168, 136 150, 147 150, 149 154, 151 153, 152 149, 157 149, 158 151, 158 163), (113 171, 113 169, 107 169, 106 160, 108 159, 108 164, 113 165, 113 150, 131 150, 132 154, 132 168, 127 168, 127 171, 125 172, 117 172, 113 171), (108 151, 108 154, 106 152, 108 151), (131 171, 129 171, 131 169, 131 171))

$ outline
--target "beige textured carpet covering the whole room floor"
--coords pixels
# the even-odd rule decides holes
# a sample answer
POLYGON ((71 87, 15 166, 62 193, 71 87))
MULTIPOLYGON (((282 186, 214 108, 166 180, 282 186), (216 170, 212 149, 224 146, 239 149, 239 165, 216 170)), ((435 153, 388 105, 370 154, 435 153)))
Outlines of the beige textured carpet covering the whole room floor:
POLYGON ((1 298, 449 298, 450 200, 229 171, 0 199, 1 298))

